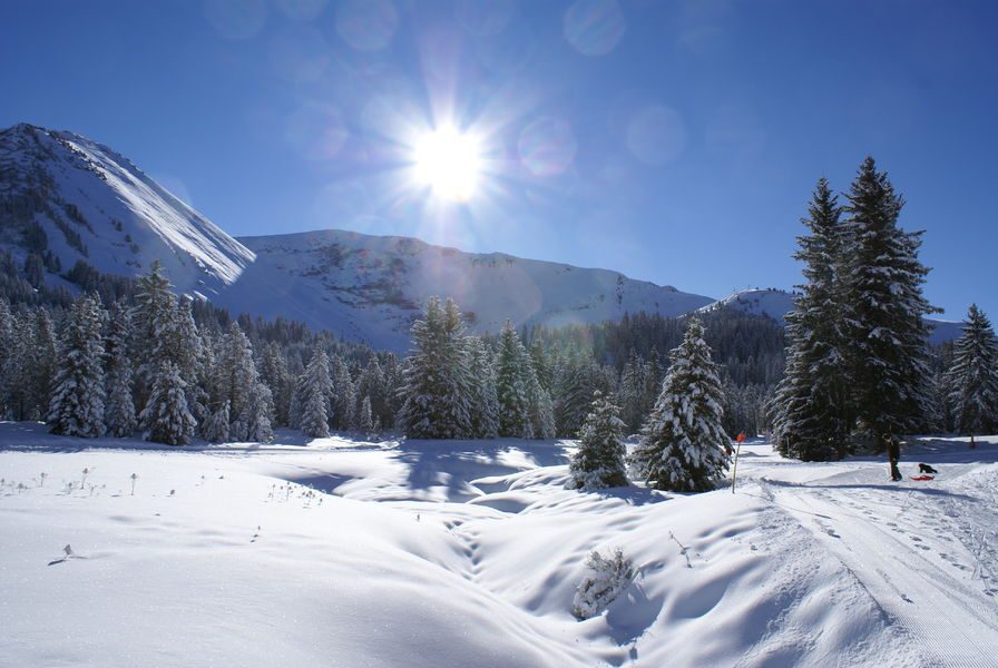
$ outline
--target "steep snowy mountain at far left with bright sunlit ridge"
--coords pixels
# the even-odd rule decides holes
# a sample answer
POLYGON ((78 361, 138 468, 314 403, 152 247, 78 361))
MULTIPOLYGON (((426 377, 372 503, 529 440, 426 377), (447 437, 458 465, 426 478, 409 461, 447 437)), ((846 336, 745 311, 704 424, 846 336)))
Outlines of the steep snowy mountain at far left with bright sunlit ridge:
MULTIPOLYGON (((253 253, 110 148, 21 124, 0 130, 0 247, 135 275, 159 259, 178 289, 217 294, 253 253)), ((50 262, 50 268, 53 261, 50 262)))

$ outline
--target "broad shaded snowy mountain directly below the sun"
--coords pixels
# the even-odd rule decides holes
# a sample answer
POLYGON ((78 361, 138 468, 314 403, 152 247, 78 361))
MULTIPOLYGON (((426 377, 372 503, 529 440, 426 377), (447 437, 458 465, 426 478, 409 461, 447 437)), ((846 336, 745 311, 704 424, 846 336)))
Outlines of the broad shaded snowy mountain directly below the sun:
POLYGON ((453 297, 471 328, 617 320, 627 312, 681 315, 710 297, 618 272, 474 254, 419 239, 324 230, 239 239, 256 261, 222 295, 236 312, 283 315, 378 347, 405 350, 425 299, 453 297))

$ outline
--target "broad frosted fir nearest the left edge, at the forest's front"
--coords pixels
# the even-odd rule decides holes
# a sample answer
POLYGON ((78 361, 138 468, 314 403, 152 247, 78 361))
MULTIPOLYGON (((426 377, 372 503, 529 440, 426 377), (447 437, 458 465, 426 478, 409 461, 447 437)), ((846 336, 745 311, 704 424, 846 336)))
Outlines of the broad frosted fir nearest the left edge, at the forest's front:
POLYGON ((48 423, 53 434, 92 439, 104 434, 104 316, 90 296, 76 299, 62 333, 48 423))

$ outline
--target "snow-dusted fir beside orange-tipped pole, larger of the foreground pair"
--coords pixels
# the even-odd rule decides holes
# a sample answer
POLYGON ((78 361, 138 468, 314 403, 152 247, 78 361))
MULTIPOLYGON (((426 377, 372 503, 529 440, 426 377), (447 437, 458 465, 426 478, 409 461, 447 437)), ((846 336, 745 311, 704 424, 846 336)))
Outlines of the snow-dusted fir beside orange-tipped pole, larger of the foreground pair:
POLYGON ((721 381, 699 320, 689 320, 671 358, 632 463, 636 475, 655 489, 712 490, 727 470, 725 446, 731 441, 721 424, 721 381))

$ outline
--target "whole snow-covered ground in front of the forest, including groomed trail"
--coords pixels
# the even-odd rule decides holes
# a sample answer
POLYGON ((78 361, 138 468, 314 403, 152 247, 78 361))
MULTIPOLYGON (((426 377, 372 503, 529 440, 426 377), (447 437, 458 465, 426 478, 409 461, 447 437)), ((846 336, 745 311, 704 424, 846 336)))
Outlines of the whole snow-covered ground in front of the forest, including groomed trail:
POLYGON ((880 461, 753 443, 737 493, 693 497, 567 491, 570 442, 278 441, 165 449, 0 423, 0 666, 998 656, 998 438, 909 444, 906 477, 940 474, 901 483, 880 461), (617 546, 635 580, 576 620, 586 554, 617 546))

